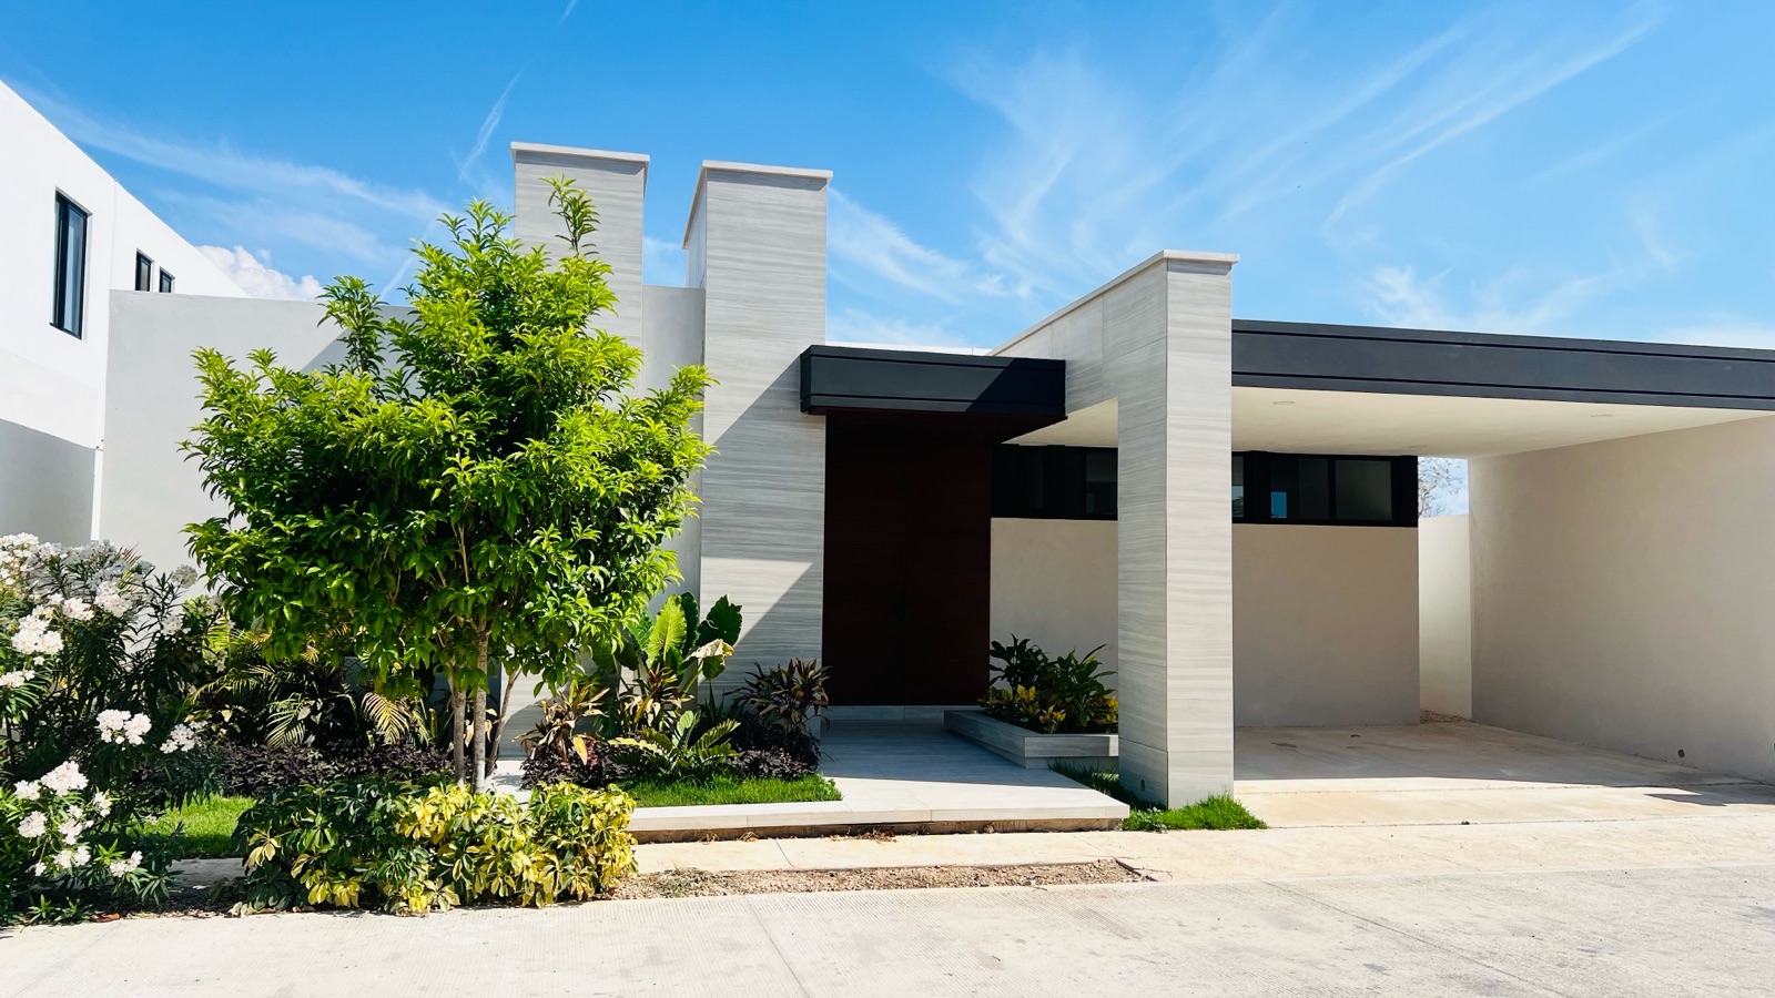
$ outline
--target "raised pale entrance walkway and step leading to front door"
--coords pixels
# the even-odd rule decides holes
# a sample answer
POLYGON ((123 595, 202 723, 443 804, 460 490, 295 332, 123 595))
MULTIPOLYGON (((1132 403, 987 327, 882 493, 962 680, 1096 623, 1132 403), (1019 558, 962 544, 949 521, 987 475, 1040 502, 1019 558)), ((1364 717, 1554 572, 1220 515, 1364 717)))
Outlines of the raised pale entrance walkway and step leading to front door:
POLYGON ((838 721, 820 744, 820 772, 841 801, 639 808, 643 840, 710 833, 785 835, 864 828, 902 831, 1113 828, 1127 804, 1047 769, 1024 769, 911 721, 838 721))

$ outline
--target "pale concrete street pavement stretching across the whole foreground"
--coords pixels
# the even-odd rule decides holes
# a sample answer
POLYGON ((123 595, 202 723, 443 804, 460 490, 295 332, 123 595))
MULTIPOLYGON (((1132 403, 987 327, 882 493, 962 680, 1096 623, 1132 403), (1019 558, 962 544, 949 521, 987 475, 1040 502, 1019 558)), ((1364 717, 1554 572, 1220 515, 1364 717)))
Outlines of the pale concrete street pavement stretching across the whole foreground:
MULTIPOLYGON (((1757 815, 946 838, 1207 859, 1115 886, 27 929, 0 938, 0 996, 394 998, 463 968, 501 994, 1775 994, 1775 819, 1757 815)), ((792 844, 703 849, 737 845, 792 844)))

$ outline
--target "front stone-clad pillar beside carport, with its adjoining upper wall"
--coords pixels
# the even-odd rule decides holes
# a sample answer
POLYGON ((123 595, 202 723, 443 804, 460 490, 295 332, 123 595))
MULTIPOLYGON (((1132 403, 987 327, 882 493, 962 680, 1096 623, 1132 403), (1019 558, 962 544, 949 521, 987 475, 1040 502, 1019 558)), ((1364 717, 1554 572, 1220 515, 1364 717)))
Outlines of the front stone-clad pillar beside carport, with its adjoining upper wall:
POLYGON ((1166 250, 998 353, 1067 360, 1116 414, 1120 772, 1177 806, 1232 790, 1232 266, 1166 250))

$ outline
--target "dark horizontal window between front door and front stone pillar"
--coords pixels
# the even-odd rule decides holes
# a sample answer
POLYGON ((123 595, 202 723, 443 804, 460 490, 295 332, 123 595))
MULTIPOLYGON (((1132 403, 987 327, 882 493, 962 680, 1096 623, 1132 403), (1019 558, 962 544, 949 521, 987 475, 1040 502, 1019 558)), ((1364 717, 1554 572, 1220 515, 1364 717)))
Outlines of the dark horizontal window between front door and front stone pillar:
POLYGON ((1113 520, 1115 448, 992 448, 992 515, 1028 520, 1113 520))

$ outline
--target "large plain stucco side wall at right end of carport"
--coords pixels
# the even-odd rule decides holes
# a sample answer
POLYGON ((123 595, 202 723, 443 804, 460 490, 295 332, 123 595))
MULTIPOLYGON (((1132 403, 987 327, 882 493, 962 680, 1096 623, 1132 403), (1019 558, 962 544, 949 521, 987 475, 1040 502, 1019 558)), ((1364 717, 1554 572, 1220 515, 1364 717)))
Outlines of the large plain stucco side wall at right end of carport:
POLYGON ((1470 478, 1475 721, 1775 781, 1775 417, 1470 478))

